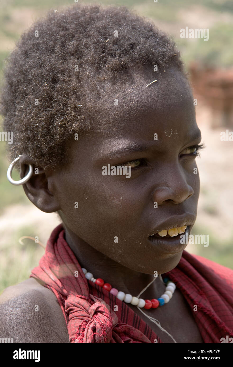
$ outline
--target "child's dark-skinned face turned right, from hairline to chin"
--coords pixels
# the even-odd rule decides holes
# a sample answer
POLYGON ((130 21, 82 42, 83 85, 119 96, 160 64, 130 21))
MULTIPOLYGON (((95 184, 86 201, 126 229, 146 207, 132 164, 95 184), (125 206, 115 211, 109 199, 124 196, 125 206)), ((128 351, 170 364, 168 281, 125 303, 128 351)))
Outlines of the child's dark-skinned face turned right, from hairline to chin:
POLYGON ((179 245, 180 236, 156 243, 148 236, 192 228, 199 176, 193 150, 186 148, 201 140, 184 77, 166 70, 154 79, 136 73, 133 88, 109 97, 107 134, 79 136, 70 148, 71 164, 55 173, 53 186, 69 230, 119 264, 151 274, 174 268, 186 247, 179 245), (103 166, 129 161, 130 178, 102 174, 103 166))

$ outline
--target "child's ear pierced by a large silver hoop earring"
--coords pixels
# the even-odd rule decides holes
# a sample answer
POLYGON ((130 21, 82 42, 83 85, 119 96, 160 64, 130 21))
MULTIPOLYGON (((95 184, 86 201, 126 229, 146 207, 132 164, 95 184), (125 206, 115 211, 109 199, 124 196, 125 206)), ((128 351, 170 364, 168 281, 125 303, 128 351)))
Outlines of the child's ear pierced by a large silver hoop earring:
POLYGON ((24 178, 29 171, 28 164, 33 166, 32 177, 23 185, 24 192, 28 199, 40 210, 46 213, 52 213, 60 210, 59 203, 48 189, 47 175, 49 170, 35 166, 27 154, 20 157, 20 179, 24 178))

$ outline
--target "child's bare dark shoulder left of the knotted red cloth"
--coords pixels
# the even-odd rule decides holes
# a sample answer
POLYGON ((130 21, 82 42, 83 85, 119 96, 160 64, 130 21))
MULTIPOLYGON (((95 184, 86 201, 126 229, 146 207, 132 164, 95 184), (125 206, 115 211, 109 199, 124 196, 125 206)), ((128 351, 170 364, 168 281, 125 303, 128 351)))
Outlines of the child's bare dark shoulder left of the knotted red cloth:
POLYGON ((65 319, 55 294, 34 278, 0 295, 0 338, 14 343, 69 343, 65 319))

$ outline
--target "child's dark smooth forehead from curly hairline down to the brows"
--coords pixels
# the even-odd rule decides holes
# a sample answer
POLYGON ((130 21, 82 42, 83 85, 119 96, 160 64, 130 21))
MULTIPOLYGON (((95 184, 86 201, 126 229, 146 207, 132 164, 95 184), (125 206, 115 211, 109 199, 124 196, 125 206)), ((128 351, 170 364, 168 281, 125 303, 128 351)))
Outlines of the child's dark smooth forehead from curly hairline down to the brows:
POLYGON ((136 146, 151 145, 162 154, 180 149, 198 137, 200 130, 186 78, 178 71, 166 70, 147 87, 154 77, 151 71, 138 72, 128 84, 107 86, 95 103, 100 127, 83 136, 78 146, 74 144, 76 154, 85 157, 88 151, 89 157, 98 159, 111 157, 117 150, 128 152, 129 146, 135 150, 136 146), (158 140, 154 134, 158 134, 158 140))

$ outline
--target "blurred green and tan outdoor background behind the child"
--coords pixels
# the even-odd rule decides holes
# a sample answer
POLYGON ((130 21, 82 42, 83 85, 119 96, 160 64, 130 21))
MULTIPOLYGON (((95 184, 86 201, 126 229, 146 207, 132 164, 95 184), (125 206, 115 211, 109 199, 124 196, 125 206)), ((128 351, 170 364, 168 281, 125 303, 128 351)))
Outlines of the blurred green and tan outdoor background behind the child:
MULTIPOLYGON (((79 3, 94 1, 79 0, 79 3)), ((182 52, 197 99, 197 124, 206 148, 197 158, 201 192, 193 234, 209 235, 209 246, 189 244, 187 251, 233 269, 233 142, 221 141, 220 132, 233 131, 233 1, 232 0, 121 0, 101 4, 125 5, 150 18, 171 35, 182 52), (209 29, 209 40, 181 39, 180 29, 209 29)), ((22 32, 53 8, 74 0, 1 0, 0 83, 4 59, 22 32)), ((0 116, 0 124, 1 124, 0 116)), ((3 131, 0 125, 0 131, 3 131)), ((27 279, 44 249, 21 236, 38 236, 46 245, 56 214, 46 214, 27 199, 22 186, 6 178, 9 162, 6 142, 0 141, 0 293, 27 279)), ((17 172, 14 179, 19 179, 17 172)))

